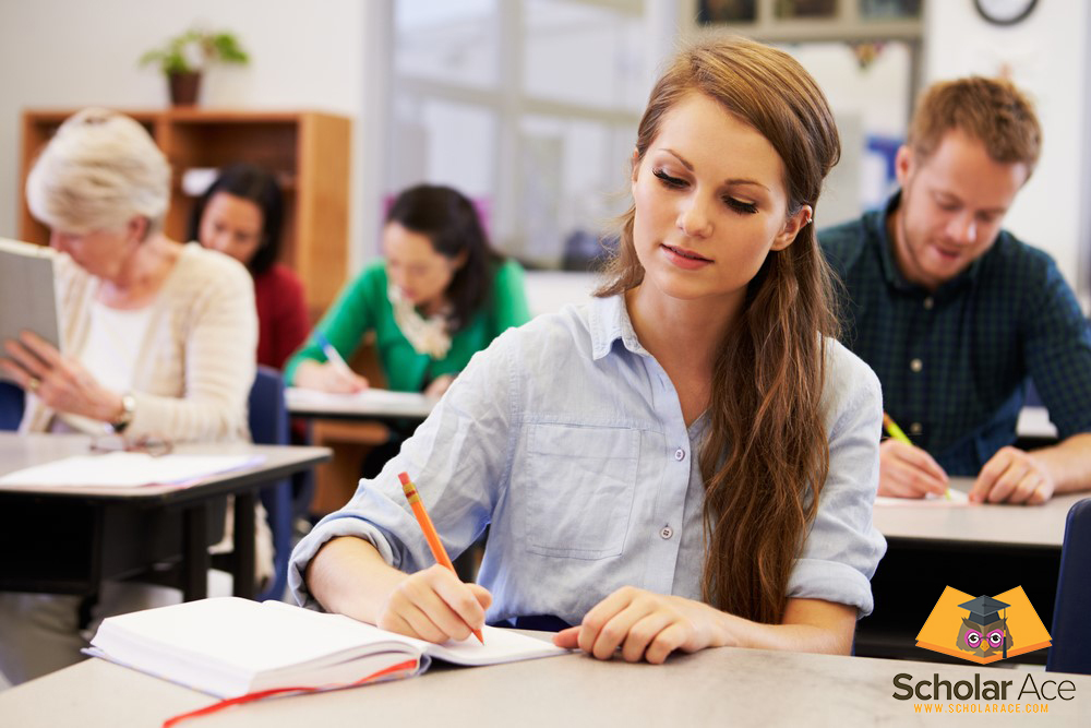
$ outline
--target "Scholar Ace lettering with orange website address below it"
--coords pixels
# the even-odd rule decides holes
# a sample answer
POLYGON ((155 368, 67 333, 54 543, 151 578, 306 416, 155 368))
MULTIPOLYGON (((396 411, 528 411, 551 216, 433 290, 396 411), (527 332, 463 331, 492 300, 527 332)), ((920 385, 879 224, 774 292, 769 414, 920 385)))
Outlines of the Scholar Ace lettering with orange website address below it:
POLYGON ((892 697, 914 702, 915 713, 1048 713, 1053 701, 1076 697, 1071 680, 1052 680, 1040 675, 1038 680, 1028 672, 1016 680, 982 680, 981 673, 969 680, 943 680, 938 672, 931 680, 916 680, 908 672, 894 677, 892 697), (967 703, 964 701, 978 701, 967 703))

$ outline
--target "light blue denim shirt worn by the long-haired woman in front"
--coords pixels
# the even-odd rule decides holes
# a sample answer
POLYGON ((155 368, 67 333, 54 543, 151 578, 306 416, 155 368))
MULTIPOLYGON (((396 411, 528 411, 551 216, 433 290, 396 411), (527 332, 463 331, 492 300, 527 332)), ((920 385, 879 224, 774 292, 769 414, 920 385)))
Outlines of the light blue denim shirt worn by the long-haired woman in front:
MULTIPOLYGON (((829 477, 788 596, 864 616, 886 550, 872 525, 882 401, 866 365, 835 341, 827 351, 829 477)), ((686 428, 623 297, 539 317, 476 355, 400 454, 300 541, 292 592, 317 607, 302 574, 337 536, 371 541, 405 572, 434 563, 398 482, 405 470, 452 558, 490 526, 478 575, 493 595, 489 622, 552 614, 576 624, 625 585, 700 599, 704 487, 694 449, 707 419, 686 428)))

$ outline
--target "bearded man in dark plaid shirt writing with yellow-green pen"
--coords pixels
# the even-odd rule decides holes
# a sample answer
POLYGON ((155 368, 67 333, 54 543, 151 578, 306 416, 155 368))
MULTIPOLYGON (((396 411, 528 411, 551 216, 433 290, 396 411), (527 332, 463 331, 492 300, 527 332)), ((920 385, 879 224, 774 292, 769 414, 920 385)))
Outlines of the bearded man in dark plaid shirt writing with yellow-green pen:
POLYGON ((1091 335, 1044 252, 1002 230, 1038 162, 1041 127, 1011 84, 935 84, 898 151, 883 211, 819 234, 846 287, 844 343, 878 374, 913 445, 880 449, 879 493, 1042 503, 1091 488, 1091 335), (1060 442, 1012 446, 1028 378, 1060 442))

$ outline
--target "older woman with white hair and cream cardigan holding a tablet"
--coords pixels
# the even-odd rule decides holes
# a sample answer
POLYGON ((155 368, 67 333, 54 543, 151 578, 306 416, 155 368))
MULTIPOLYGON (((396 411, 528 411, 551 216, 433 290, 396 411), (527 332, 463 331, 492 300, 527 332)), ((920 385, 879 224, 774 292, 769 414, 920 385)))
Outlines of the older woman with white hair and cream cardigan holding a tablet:
MULTIPOLYGON (((253 284, 237 261, 163 232, 170 166, 147 131, 121 114, 80 111, 34 164, 26 196, 59 253, 63 354, 32 333, 3 343, 0 367, 28 394, 21 431, 248 440, 253 284)), ((100 612, 148 604, 131 595, 109 604, 117 586, 104 589, 100 612)), ((77 597, 0 595, 9 680, 81 659, 79 606, 77 597)))

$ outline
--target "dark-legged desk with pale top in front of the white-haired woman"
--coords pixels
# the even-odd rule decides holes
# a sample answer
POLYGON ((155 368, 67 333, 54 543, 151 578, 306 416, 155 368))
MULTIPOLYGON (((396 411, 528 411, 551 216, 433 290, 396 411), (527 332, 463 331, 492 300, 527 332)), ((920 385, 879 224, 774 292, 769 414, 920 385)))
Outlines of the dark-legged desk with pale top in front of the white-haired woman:
MULTIPOLYGON (((0 475, 85 455, 89 444, 91 438, 85 435, 0 432, 0 475)), ((218 540, 215 505, 224 503, 225 496, 235 496, 233 588, 237 596, 253 598, 259 487, 327 460, 329 451, 203 443, 177 445, 173 452, 260 454, 264 461, 187 487, 110 490, 0 486, 0 513, 4 517, 0 552, 9 554, 0 560, 0 589, 92 595, 103 580, 123 578, 180 554, 184 598, 202 598, 206 596, 211 561, 207 547, 218 540), (171 525, 176 533, 167 533, 171 525), (71 558, 57 558, 62 548, 71 558), (17 558, 13 558, 15 553, 17 558)), ((223 513, 220 509, 219 523, 223 513)))

